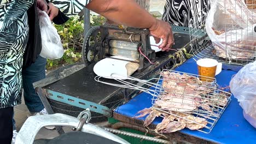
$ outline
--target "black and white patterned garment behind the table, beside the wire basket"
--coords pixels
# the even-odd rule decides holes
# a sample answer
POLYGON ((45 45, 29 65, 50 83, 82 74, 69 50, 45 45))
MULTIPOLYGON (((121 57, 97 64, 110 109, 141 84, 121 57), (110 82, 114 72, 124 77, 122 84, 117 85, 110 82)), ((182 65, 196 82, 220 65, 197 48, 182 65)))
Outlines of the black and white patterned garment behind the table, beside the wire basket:
POLYGON ((174 26, 201 28, 210 0, 167 0, 162 20, 174 26))

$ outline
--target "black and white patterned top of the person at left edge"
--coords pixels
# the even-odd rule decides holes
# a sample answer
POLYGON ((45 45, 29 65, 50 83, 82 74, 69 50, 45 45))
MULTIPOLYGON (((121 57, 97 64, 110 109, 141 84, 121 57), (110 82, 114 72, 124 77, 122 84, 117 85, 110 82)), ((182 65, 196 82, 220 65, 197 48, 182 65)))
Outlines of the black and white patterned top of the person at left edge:
MULTIPOLYGON (((78 14, 90 0, 52 1, 67 15, 78 14)), ((28 38, 27 10, 34 0, 0 0, 0 108, 21 103, 22 61, 28 38)))

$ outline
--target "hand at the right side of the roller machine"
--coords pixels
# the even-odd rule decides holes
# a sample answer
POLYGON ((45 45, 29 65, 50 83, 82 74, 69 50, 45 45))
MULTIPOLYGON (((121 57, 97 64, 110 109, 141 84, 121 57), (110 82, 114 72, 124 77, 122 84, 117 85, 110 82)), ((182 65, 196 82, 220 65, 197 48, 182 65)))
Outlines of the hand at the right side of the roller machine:
POLYGON ((174 45, 172 27, 167 22, 156 20, 154 25, 149 28, 149 31, 155 38, 156 44, 162 39, 162 44, 159 45, 159 49, 162 51, 169 51, 174 45))

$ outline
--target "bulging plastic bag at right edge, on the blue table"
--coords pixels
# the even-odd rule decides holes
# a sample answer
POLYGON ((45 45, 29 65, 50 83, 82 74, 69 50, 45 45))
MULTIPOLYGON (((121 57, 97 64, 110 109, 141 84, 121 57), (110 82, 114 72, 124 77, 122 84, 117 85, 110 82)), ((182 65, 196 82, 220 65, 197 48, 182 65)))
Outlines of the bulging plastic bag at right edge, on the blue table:
POLYGON ((256 61, 238 71, 230 81, 230 90, 240 102, 243 116, 256 128, 256 61))

